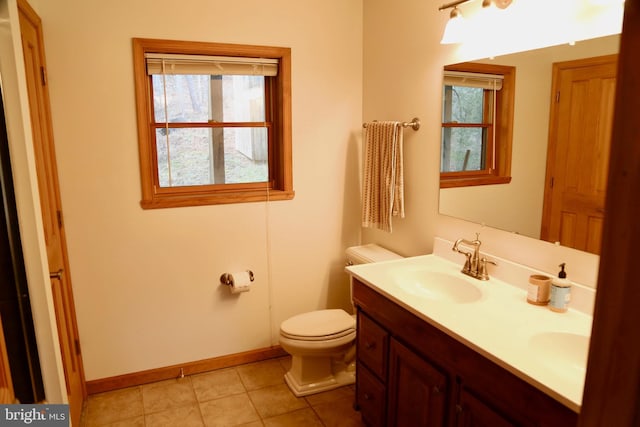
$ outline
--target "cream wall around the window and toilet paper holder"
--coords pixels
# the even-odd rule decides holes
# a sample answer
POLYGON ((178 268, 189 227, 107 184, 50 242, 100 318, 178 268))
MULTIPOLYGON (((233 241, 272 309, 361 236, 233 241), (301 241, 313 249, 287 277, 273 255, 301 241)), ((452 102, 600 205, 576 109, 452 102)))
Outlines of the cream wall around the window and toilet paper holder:
POLYGON ((349 308, 359 242, 362 1, 32 0, 42 18, 87 380, 277 344, 349 308), (144 211, 132 37, 292 48, 292 201, 144 211), (251 269, 229 297, 221 273, 251 269))

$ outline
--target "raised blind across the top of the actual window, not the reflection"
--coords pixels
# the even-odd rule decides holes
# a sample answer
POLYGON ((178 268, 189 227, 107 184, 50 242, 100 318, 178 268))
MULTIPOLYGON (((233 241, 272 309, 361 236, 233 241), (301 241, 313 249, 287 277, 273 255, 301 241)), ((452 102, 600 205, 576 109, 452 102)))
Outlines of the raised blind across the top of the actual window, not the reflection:
POLYGON ((277 76, 278 60, 234 56, 145 53, 147 74, 277 76))

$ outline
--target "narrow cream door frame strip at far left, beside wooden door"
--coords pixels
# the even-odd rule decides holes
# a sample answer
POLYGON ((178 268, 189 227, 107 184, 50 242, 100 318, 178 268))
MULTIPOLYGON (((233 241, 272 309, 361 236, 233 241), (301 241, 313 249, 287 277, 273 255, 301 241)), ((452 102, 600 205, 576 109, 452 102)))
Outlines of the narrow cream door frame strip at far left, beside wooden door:
POLYGON ((67 390, 42 230, 18 6, 17 0, 2 3, 0 48, 3 54, 0 55, 0 76, 22 251, 45 395, 50 402, 64 402, 67 390))

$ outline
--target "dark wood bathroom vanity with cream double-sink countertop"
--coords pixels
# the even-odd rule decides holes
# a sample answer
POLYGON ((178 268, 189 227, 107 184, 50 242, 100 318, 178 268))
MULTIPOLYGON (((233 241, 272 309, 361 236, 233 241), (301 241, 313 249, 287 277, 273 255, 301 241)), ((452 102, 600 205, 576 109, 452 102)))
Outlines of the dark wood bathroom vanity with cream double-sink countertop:
POLYGON ((365 423, 575 426, 584 372, 565 368, 586 366, 590 316, 561 317, 459 268, 433 256, 348 268, 365 423))

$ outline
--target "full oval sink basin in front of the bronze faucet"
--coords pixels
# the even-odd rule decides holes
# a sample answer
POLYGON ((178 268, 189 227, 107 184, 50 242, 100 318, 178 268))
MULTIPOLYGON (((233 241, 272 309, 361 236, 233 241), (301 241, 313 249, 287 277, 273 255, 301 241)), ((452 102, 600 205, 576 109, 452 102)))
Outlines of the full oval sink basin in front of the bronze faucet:
POLYGON ((398 275, 396 284, 412 295, 435 301, 466 304, 482 297, 482 291, 474 284, 439 271, 402 272, 398 275))

